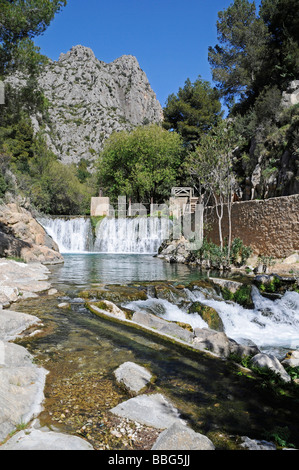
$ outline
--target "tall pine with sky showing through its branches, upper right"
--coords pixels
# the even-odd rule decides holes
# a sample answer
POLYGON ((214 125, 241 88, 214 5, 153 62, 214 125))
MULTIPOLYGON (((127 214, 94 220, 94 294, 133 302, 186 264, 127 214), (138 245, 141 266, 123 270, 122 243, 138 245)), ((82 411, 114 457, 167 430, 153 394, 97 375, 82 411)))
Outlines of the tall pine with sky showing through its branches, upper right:
POLYGON ((266 73, 269 32, 257 16, 255 2, 234 0, 218 13, 219 43, 209 47, 213 80, 227 104, 248 99, 266 73))

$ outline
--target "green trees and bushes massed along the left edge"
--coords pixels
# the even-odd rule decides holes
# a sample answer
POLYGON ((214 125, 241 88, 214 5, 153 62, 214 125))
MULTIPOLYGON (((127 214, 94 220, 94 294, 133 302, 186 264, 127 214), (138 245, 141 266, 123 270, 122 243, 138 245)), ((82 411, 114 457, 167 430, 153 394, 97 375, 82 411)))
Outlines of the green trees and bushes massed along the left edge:
POLYGON ((38 210, 49 214, 85 214, 94 195, 95 179, 88 164, 63 165, 43 137, 48 101, 38 87, 38 76, 47 59, 33 38, 66 4, 62 0, 0 0, 0 79, 18 72, 17 87, 5 85, 5 106, 0 106, 0 198, 7 191, 30 198, 38 210), (34 132, 31 116, 39 114, 40 131, 34 132))

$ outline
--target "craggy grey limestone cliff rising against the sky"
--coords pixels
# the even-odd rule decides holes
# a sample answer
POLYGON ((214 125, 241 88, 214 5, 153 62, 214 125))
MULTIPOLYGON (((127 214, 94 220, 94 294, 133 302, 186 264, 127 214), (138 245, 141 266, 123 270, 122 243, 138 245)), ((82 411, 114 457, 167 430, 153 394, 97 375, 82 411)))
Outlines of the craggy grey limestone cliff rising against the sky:
MULTIPOLYGON (((106 64, 91 49, 75 46, 50 61, 40 86, 50 103, 46 137, 66 164, 93 162, 113 131, 162 120, 160 103, 131 55, 106 64)), ((34 118, 36 129, 42 123, 34 118)))

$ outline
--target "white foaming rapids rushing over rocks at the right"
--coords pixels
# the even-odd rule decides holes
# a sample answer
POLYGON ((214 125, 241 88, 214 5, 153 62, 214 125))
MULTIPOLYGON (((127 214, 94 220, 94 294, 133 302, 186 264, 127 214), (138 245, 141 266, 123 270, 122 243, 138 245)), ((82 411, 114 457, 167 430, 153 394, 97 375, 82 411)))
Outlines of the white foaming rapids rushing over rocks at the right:
MULTIPOLYGON (((246 309, 221 298, 207 296, 202 290, 185 289, 190 302, 199 301, 213 307, 221 317, 224 331, 230 338, 242 343, 253 341, 261 350, 299 348, 299 294, 286 292, 280 299, 263 297, 252 287, 254 309, 246 309)), ((149 298, 126 305, 132 310, 146 310, 165 320, 180 321, 193 328, 208 328, 197 314, 188 314, 183 308, 164 299, 149 298)))

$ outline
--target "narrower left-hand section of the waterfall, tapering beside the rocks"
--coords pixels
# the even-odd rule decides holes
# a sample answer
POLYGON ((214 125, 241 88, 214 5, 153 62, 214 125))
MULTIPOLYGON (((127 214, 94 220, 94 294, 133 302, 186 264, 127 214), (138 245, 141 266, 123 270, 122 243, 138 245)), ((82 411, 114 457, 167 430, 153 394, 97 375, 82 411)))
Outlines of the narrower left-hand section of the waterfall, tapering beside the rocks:
POLYGON ((57 243, 61 253, 86 253, 93 250, 89 218, 43 217, 38 222, 57 243))

